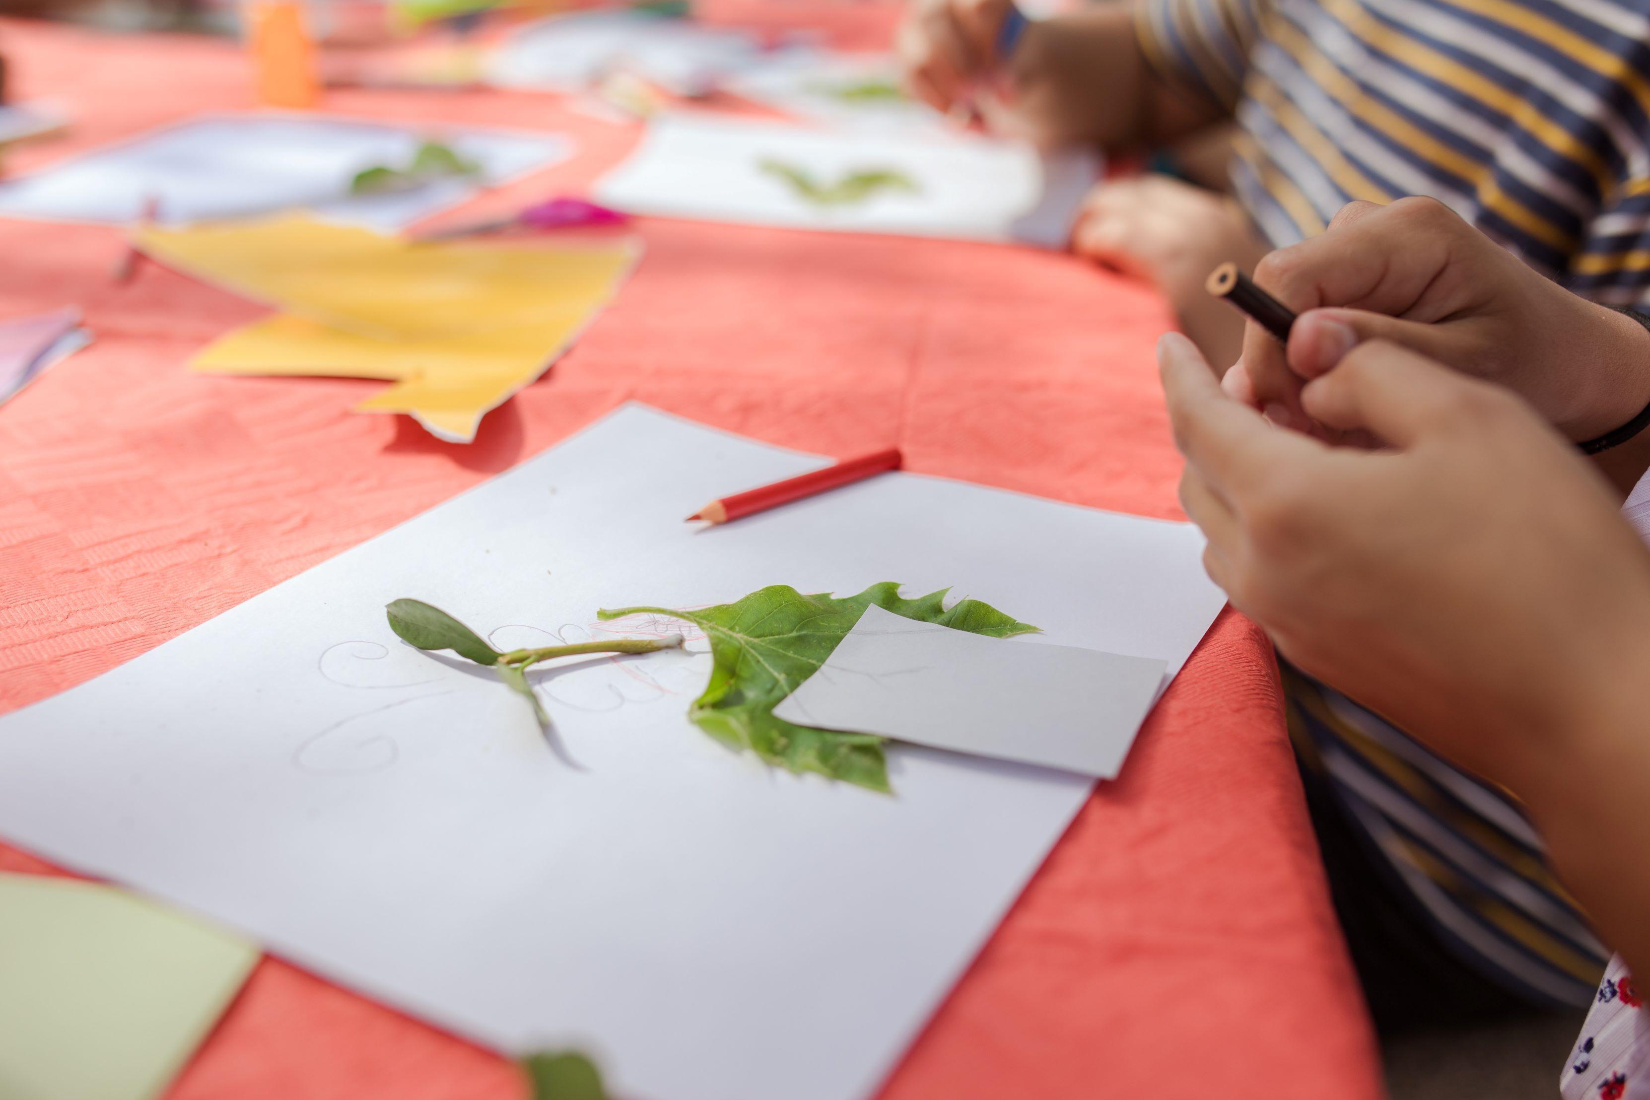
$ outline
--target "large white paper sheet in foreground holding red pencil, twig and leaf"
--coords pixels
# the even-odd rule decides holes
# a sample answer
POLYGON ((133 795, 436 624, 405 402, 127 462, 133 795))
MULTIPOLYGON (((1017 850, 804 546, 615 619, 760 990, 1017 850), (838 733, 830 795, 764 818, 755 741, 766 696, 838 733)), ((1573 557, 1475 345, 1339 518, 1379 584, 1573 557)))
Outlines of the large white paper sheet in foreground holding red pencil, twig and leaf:
POLYGON ((1188 524, 909 473, 681 521, 820 465, 627 406, 0 717, 0 836, 480 1042, 587 1047, 619 1095, 866 1097, 1091 782, 917 747, 894 795, 771 770, 686 721, 703 638, 535 675, 546 745, 383 613, 419 597, 512 648, 676 628, 599 607, 903 581, 1178 670, 1223 605, 1188 524))

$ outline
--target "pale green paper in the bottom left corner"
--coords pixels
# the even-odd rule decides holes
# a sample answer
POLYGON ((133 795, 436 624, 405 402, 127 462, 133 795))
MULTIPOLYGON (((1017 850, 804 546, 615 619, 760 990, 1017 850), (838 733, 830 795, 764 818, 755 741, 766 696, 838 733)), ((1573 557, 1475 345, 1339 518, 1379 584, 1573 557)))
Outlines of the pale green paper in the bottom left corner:
POLYGON ((257 957, 111 886, 0 874, 0 1097, 158 1095, 257 957))

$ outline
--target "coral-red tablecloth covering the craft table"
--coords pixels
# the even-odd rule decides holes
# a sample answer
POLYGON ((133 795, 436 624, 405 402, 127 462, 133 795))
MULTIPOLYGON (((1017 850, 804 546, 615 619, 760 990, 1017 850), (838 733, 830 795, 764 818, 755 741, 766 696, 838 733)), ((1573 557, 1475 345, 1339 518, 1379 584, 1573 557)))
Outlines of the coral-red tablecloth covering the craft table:
MULTIPOLYGON (((223 43, 0 23, 0 49, 25 96, 78 117, 71 140, 13 170, 249 106, 223 43)), ((526 94, 351 91, 325 109, 578 139, 576 162, 478 208, 576 186, 634 140, 526 94)), ((112 229, 0 219, 0 317, 76 302, 97 333, 0 407, 0 709, 102 673, 632 397, 790 447, 898 440, 914 470, 1180 516, 1152 364, 1170 318, 1152 292, 1016 247, 673 221, 642 233, 617 303, 454 447, 348 412, 378 383, 185 373, 195 348, 259 310, 155 267, 112 285, 112 229)), ((1036 548, 1003 567, 1035 569, 1036 548)), ((0 867, 51 871, 7 848, 0 867)), ((272 958, 170 1092, 520 1095, 497 1055, 272 958)), ((1089 800, 883 1095, 1379 1095, 1251 623, 1219 618, 1122 778, 1089 800)))

